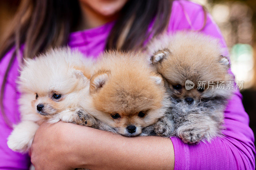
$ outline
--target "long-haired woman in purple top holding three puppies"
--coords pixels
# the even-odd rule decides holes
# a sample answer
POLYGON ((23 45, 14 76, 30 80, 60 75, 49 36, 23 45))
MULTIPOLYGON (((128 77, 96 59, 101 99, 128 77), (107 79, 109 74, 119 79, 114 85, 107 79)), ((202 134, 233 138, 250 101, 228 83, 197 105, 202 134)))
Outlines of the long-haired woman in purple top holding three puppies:
MULTIPOLYGON (((185 0, 23 1, 0 46, 0 168, 28 169, 30 164, 28 155, 6 144, 12 123, 18 122, 15 80, 22 57, 67 44, 97 57, 104 49, 142 48, 153 36, 178 30, 201 31, 226 46, 211 16, 185 0)), ((225 137, 211 143, 128 138, 71 123, 45 123, 33 141, 31 161, 36 169, 254 169, 254 136, 241 99, 236 91, 225 111, 225 137)))

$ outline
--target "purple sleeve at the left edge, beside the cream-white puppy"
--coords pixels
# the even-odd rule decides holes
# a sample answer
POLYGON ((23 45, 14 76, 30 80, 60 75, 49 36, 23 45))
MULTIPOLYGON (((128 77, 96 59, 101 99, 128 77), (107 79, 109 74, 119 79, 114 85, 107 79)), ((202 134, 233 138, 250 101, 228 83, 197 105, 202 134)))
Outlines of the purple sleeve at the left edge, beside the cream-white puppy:
MULTIPOLYGON (((5 70, 7 69, 8 63, 13 54, 13 49, 8 52, 3 60, 0 62, 0 85, 4 78, 5 70)), ((14 60, 11 70, 9 72, 7 83, 4 91, 4 110, 8 120, 12 123, 17 124, 19 122, 19 110, 17 105, 17 99, 19 94, 16 89, 16 78, 18 75, 18 61, 14 60)), ((20 154, 13 152, 8 148, 6 142, 7 137, 10 135, 12 129, 9 128, 3 117, 3 113, 0 111, 0 169, 11 170, 11 169, 29 169, 30 158, 28 154, 20 154)))

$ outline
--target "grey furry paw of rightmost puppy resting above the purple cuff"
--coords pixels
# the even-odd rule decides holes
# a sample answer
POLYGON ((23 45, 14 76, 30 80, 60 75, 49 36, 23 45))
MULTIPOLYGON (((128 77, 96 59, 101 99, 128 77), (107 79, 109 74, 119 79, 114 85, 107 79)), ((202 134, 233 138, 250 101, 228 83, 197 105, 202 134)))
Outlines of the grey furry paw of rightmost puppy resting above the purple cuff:
POLYGON ((180 131, 178 136, 183 140, 183 142, 193 144, 200 142, 204 137, 204 133, 198 129, 185 129, 180 131))

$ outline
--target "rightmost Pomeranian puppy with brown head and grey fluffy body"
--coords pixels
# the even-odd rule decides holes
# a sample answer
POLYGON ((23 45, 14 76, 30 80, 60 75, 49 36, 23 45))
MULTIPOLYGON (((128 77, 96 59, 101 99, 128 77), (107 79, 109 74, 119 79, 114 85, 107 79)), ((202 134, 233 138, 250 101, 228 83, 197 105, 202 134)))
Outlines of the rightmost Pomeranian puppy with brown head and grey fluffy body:
POLYGON ((221 135, 234 77, 219 41, 192 32, 161 35, 149 44, 148 53, 172 101, 164 120, 174 122, 174 131, 166 133, 168 126, 162 123, 154 127, 156 134, 177 135, 186 143, 221 135))

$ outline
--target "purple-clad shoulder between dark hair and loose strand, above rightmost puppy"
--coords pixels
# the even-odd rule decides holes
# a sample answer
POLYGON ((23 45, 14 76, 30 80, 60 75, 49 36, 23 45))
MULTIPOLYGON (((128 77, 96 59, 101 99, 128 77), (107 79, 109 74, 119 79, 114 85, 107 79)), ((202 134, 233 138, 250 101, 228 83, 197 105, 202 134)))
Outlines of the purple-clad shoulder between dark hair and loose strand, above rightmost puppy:
POLYGON ((202 5, 187 0, 175 0, 168 31, 200 30, 204 26, 205 17, 207 16, 202 5))

